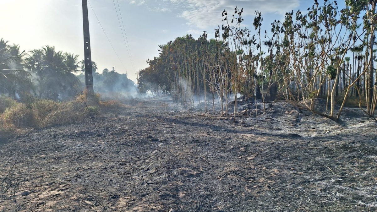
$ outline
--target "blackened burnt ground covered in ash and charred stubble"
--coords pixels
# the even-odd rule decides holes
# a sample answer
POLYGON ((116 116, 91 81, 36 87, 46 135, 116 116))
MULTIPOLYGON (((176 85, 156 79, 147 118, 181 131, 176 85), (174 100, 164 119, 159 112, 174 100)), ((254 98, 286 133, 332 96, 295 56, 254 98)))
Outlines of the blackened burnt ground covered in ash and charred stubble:
POLYGON ((0 211, 377 210, 377 124, 352 109, 234 124, 152 103, 97 115, 101 137, 87 120, 2 144, 0 211))

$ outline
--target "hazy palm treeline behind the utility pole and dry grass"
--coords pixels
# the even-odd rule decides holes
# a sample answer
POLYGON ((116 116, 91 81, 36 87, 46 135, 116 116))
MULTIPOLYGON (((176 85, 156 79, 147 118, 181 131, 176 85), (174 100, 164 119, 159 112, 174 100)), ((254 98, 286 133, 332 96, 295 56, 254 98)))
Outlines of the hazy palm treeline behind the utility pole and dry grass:
MULTIPOLYGON (((83 60, 79 55, 57 51, 54 46, 21 51, 18 45, 0 39, 0 94, 22 99, 26 96, 52 98, 58 92, 60 98, 70 99, 84 90, 83 60)), ((125 91, 134 89, 134 83, 126 74, 104 69, 96 72, 93 62, 93 82, 96 92, 125 91)))

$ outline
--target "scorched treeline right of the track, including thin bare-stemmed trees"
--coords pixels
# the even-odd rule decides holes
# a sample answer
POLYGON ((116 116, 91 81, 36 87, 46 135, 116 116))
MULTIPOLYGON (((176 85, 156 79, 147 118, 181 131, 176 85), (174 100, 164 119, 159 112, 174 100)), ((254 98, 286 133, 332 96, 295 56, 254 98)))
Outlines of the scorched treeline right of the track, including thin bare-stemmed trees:
POLYGON ((181 104, 191 104, 195 95, 207 100, 208 93, 226 103, 230 92, 263 101, 284 98, 336 121, 348 98, 357 98, 374 116, 376 1, 345 3, 339 9, 336 1, 314 0, 307 11, 275 20, 269 32, 262 31, 261 12, 248 29, 241 27, 243 9, 224 10, 214 39, 204 32, 196 40, 186 35, 159 46, 159 57, 139 72, 139 90, 169 92, 181 104), (314 110, 317 97, 328 100, 328 113, 314 110))

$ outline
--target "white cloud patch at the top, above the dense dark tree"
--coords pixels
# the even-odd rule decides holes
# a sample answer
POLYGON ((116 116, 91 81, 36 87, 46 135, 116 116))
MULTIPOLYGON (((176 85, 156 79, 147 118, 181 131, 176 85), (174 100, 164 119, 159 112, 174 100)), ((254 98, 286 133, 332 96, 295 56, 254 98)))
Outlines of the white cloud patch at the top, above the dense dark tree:
POLYGON ((150 11, 176 12, 187 25, 205 29, 221 25, 221 12, 226 9, 233 14, 234 8, 244 8, 243 15, 253 15, 256 10, 262 15, 274 13, 284 15, 297 8, 300 0, 132 0, 130 3, 146 5, 150 11))

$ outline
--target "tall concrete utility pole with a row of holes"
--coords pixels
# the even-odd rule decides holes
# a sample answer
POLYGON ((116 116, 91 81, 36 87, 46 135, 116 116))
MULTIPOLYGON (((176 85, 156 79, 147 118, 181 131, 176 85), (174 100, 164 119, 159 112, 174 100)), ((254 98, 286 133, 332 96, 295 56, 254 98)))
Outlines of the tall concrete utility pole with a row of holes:
POLYGON ((93 95, 93 71, 92 55, 90 53, 90 35, 89 35, 89 18, 88 2, 83 0, 83 26, 84 26, 84 65, 85 65, 85 86, 90 96, 93 95))

